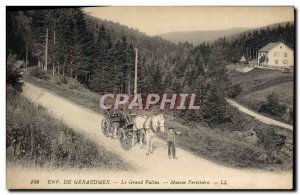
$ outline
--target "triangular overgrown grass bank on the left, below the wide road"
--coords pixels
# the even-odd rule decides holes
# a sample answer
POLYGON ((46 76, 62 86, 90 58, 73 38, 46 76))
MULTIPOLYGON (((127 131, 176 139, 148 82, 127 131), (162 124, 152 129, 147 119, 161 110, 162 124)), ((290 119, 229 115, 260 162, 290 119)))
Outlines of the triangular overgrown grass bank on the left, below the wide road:
POLYGON ((117 155, 52 118, 44 108, 7 87, 7 162, 49 168, 127 170, 117 155))

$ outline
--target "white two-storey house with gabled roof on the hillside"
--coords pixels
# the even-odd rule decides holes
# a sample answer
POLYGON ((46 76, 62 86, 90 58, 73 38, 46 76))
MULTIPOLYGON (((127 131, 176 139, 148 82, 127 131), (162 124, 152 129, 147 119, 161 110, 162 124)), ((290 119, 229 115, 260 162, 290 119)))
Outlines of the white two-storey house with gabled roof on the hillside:
POLYGON ((258 50, 257 66, 270 68, 293 68, 294 52, 282 42, 269 43, 258 50))

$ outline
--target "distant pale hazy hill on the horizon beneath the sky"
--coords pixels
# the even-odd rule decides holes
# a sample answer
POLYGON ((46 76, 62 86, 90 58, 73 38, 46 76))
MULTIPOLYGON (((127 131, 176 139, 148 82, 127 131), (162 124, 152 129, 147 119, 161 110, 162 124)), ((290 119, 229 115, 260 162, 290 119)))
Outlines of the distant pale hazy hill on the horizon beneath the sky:
POLYGON ((233 34, 245 32, 249 28, 230 28, 225 30, 211 30, 211 31, 178 31, 160 34, 158 36, 164 38, 165 40, 171 41, 173 43, 189 42, 194 45, 199 45, 203 42, 213 42, 218 38, 230 36, 233 34))

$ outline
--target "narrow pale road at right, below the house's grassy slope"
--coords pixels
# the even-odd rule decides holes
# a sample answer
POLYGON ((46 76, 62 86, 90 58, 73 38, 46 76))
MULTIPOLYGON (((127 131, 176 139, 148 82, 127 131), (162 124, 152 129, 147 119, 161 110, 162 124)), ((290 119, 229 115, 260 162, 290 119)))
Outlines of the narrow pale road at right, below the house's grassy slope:
POLYGON ((289 129, 289 130, 293 130, 293 126, 292 125, 289 125, 289 124, 285 124, 285 123, 282 123, 280 121, 276 121, 274 119, 271 119, 269 117, 266 117, 266 116, 263 116, 261 114, 258 114, 242 105, 240 105, 239 103, 231 100, 231 99, 226 99, 227 102, 233 106, 233 107, 236 107, 237 109, 239 109, 241 112, 244 112, 250 116, 253 116, 255 117, 257 120, 265 123, 265 124, 269 124, 269 125, 276 125, 276 126, 279 126, 279 127, 283 127, 283 128, 286 128, 286 129, 289 129))

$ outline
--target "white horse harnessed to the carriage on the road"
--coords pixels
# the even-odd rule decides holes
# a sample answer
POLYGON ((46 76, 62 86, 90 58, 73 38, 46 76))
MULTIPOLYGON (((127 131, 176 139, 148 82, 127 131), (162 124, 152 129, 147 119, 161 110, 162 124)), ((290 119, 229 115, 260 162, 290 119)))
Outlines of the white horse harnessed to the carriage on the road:
MULTIPOLYGON (((136 132, 142 131, 140 133, 144 133, 146 138, 146 146, 147 146, 147 155, 153 152, 153 138, 154 135, 160 131, 162 133, 165 132, 165 120, 163 114, 154 114, 150 117, 138 115, 135 117, 133 121, 133 131, 136 132)), ((142 136, 139 136, 139 140, 141 147, 143 147, 142 136)), ((132 138, 132 144, 134 144, 134 136, 132 138)))

